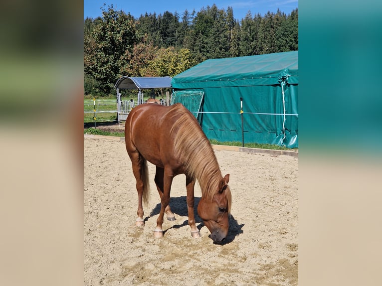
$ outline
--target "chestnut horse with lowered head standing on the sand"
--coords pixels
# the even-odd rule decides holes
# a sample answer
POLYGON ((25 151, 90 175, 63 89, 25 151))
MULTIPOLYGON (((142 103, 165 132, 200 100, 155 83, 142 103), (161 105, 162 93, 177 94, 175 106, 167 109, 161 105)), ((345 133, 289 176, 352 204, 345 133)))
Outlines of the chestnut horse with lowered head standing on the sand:
POLYGON ((156 166, 154 181, 161 197, 161 211, 154 237, 163 237, 165 213, 168 220, 175 220, 169 205, 171 184, 175 176, 185 174, 192 238, 201 237, 193 213, 197 179, 201 189, 197 213, 210 231, 209 237, 213 242, 222 243, 228 234, 231 210, 229 174, 222 176, 212 146, 191 112, 181 103, 172 106, 141 104, 127 117, 125 143, 137 181, 136 225, 145 225, 142 202, 146 202, 146 205, 148 202, 149 161, 156 166))

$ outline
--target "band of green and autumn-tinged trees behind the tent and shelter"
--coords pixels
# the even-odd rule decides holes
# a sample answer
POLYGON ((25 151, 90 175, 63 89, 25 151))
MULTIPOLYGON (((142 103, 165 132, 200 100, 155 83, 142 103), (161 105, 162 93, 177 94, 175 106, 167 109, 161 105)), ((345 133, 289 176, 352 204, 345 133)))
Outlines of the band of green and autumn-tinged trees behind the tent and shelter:
POLYGON ((84 20, 84 79, 89 93, 112 92, 120 76, 175 76, 211 58, 298 50, 298 8, 263 16, 215 4, 182 15, 130 13, 103 8, 84 20), (93 85, 93 86, 92 86, 93 85))

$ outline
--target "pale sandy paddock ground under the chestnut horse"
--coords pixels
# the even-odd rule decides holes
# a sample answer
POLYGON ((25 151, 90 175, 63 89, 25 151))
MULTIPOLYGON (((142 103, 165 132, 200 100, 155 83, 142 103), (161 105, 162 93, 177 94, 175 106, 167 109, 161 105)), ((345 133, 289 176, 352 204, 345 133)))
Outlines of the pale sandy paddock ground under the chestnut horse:
MULTIPOLYGON (((138 195, 125 143, 84 139, 84 285, 297 285, 298 158, 215 154, 232 192, 223 245, 213 244, 198 216, 202 237, 191 237, 184 175, 172 187, 177 220, 165 220, 164 237, 154 238, 160 200, 150 163, 146 226, 136 227, 138 195)), ((196 186, 195 204, 200 196, 196 186)))

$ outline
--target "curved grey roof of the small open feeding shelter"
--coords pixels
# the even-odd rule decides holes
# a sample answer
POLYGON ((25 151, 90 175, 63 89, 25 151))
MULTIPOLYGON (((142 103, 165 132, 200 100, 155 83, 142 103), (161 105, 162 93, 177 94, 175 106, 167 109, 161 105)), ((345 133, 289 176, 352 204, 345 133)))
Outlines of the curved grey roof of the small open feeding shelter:
POLYGON ((150 89, 170 88, 172 77, 128 77, 123 76, 117 80, 114 88, 119 89, 150 89))

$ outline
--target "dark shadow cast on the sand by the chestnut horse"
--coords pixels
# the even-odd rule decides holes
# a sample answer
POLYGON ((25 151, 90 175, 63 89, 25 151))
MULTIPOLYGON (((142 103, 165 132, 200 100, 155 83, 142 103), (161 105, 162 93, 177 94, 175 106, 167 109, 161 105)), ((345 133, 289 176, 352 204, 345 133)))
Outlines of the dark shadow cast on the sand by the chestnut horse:
MULTIPOLYGON (((200 201, 200 198, 195 197, 193 214, 195 217, 196 227, 200 231, 200 229, 203 227, 203 223, 202 223, 203 221, 199 217, 199 215, 197 214, 197 205, 199 204, 199 201, 200 201)), ((170 206, 171 206, 172 212, 175 215, 188 217, 189 213, 188 213, 188 208, 187 208, 187 197, 186 196, 172 197, 171 201, 170 201, 170 206)), ((154 209, 152 209, 152 211, 150 212, 150 217, 159 215, 160 211, 161 211, 161 203, 158 203, 154 207, 154 209)), ((148 220, 148 217, 145 218, 145 221, 147 221, 147 220, 148 220)), ((188 225, 189 225, 189 221, 185 220, 182 224, 174 224, 169 229, 172 229, 172 228, 178 229, 178 228, 181 228, 183 226, 188 226, 188 225)), ((235 220, 233 215, 231 214, 230 220, 229 220, 228 235, 225 238, 225 240, 223 241, 223 243, 221 243, 221 244, 224 245, 227 243, 231 243, 236 238, 236 236, 243 233, 243 230, 242 230, 243 226, 244 226, 244 224, 239 225, 237 223, 237 220, 235 220)), ((166 232, 167 232, 167 230, 165 230, 163 233, 165 234, 166 232)))

